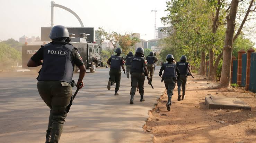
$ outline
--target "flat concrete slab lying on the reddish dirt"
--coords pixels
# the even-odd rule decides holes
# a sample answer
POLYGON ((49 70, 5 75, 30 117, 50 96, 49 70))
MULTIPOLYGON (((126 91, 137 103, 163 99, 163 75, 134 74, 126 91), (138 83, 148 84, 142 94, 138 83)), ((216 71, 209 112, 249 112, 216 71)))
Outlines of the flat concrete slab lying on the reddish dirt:
POLYGON ((226 96, 205 96, 205 104, 208 109, 244 109, 251 110, 251 107, 240 99, 226 96))

